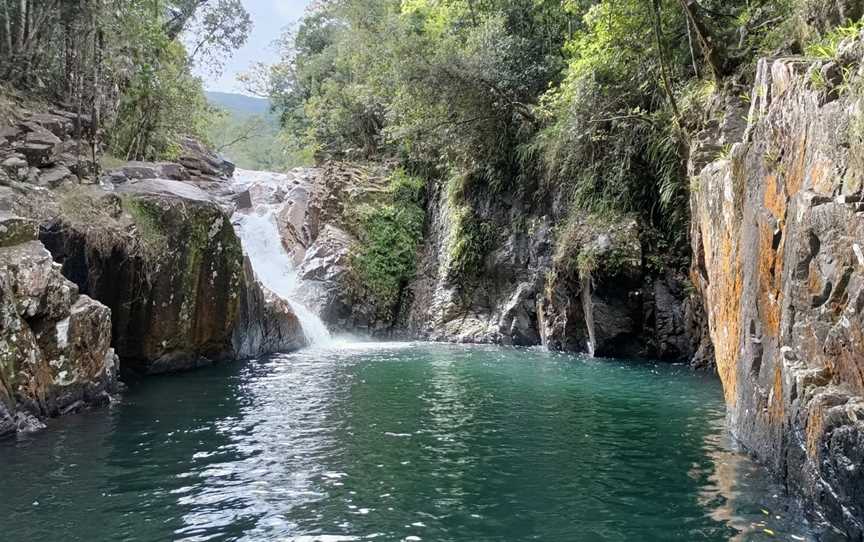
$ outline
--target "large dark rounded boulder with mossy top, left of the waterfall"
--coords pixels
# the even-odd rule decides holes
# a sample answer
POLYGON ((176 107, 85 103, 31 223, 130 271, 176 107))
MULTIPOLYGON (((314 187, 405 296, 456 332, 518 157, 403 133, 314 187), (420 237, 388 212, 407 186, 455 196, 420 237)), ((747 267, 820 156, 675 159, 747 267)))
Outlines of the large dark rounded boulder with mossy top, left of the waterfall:
POLYGON ((42 239, 82 292, 111 307, 124 366, 162 373, 232 358, 243 260, 225 212, 179 181, 130 181, 117 194, 120 231, 57 222, 42 239))

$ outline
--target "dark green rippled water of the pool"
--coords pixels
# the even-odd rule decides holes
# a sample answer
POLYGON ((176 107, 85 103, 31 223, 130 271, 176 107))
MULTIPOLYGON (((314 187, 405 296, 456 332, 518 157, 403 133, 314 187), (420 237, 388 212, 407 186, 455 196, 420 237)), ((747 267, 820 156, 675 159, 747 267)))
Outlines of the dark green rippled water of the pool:
POLYGON ((723 421, 718 382, 683 367, 307 351, 148 379, 0 442, 0 539, 810 539, 723 421))

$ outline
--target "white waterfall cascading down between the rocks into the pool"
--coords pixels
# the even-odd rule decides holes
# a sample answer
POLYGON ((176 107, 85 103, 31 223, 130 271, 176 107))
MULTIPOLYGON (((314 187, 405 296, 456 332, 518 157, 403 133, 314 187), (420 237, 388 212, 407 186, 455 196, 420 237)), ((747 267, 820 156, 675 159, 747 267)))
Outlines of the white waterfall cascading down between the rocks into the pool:
POLYGON ((329 342, 330 332, 321 318, 296 301, 297 270, 282 246, 272 210, 262 206, 250 214, 238 213, 234 216, 234 224, 258 280, 291 305, 309 344, 321 346, 329 342))

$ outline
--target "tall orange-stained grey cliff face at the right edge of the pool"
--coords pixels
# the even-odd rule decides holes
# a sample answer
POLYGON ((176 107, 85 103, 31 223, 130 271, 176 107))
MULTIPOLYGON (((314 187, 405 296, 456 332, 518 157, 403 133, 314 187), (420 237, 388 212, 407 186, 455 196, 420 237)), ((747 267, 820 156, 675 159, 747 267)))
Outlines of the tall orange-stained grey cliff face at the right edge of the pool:
POLYGON ((860 540, 864 132, 859 101, 811 87, 824 67, 759 64, 742 141, 695 171, 692 276, 736 437, 860 540))

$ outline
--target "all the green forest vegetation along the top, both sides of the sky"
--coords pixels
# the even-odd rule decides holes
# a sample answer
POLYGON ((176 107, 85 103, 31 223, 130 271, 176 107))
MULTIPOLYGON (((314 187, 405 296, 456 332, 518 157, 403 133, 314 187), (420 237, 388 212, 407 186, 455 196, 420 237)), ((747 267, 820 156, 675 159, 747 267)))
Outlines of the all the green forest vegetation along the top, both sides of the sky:
MULTIPOLYGON (((322 0, 280 39, 282 61, 246 76, 271 99, 281 133, 263 117, 215 111, 193 75, 218 70, 245 41, 240 0, 2 0, 0 73, 10 91, 92 113, 103 127, 94 153, 171 158, 192 135, 267 169, 336 158, 446 183, 456 278, 478 272, 495 243, 478 194, 553 198, 571 217, 559 240, 586 215, 636 216, 649 251, 668 258, 660 265, 683 268, 686 163, 710 101, 721 89, 747 100, 759 57, 830 56, 843 29, 820 36, 808 24, 820 6, 322 0)), ((404 284, 413 273, 403 255, 421 235, 416 208, 397 211, 369 222, 365 236, 383 244, 359 256, 377 270, 366 282, 404 284), (403 244, 391 250, 393 239, 403 244)), ((567 243, 558 251, 566 258, 567 243)))

